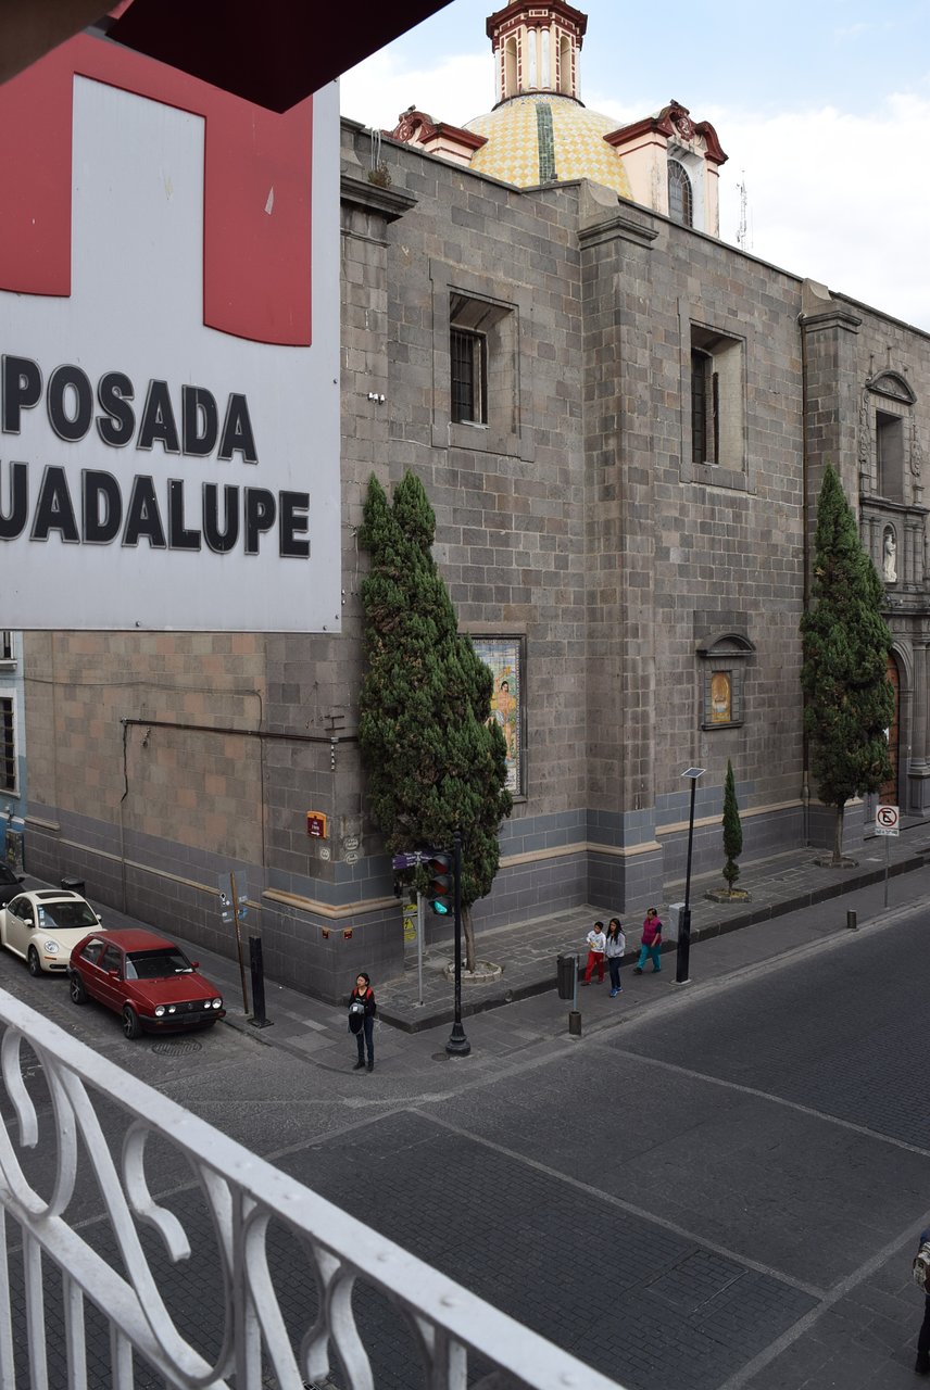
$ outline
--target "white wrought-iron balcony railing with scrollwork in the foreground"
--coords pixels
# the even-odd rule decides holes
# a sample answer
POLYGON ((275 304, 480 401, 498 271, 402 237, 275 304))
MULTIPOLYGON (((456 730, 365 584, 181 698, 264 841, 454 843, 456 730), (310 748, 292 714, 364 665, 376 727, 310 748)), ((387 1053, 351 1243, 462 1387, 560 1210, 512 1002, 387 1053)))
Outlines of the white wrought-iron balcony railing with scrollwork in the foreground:
POLYGON ((616 1390, 4 991, 0 1023, 0 1390, 371 1390, 380 1357, 616 1390))

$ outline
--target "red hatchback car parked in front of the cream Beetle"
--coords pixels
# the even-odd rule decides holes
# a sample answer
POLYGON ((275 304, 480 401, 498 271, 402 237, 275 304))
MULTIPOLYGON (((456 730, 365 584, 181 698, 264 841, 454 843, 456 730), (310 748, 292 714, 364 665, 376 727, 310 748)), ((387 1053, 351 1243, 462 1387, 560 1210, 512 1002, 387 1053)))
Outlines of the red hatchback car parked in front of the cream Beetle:
POLYGON ((225 1015, 220 991, 197 974, 196 960, 143 927, 83 937, 71 952, 68 979, 74 1002, 99 999, 114 1009, 128 1038, 210 1027, 225 1015))

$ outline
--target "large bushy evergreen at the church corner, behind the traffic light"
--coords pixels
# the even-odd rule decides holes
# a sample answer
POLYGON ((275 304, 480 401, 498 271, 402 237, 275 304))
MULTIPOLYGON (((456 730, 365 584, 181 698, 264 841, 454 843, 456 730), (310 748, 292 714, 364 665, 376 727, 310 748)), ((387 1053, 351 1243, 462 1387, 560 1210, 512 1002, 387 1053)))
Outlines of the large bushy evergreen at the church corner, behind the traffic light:
POLYGON ((420 480, 405 474, 391 503, 373 474, 359 535, 371 556, 359 742, 371 815, 391 853, 446 849, 462 830, 466 969, 474 970, 471 905, 491 891, 513 799, 503 734, 489 717, 491 670, 459 632, 434 537, 420 480))

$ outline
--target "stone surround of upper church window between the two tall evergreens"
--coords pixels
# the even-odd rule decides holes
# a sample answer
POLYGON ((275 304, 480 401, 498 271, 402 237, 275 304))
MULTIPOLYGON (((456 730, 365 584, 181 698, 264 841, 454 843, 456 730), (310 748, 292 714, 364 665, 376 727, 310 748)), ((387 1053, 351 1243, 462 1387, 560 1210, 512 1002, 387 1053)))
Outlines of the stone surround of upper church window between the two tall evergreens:
POLYGON ((683 482, 705 482, 734 492, 755 492, 755 468, 748 449, 747 375, 753 338, 745 325, 715 322, 695 310, 687 299, 678 300, 681 348, 681 460, 683 482), (721 431, 720 457, 716 463, 694 459, 691 423, 691 384, 695 353, 716 357, 721 381, 719 395, 728 411, 721 431))

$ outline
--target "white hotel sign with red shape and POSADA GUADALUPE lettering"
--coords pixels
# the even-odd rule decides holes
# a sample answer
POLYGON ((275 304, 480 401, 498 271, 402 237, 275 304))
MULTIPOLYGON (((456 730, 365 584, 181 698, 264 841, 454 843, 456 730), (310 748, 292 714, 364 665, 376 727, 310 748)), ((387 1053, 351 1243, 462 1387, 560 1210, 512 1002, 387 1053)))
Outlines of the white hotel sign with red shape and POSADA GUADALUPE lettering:
POLYGON ((79 36, 0 90, 7 627, 341 627, 338 93, 206 88, 79 36))

